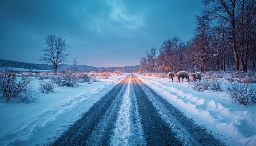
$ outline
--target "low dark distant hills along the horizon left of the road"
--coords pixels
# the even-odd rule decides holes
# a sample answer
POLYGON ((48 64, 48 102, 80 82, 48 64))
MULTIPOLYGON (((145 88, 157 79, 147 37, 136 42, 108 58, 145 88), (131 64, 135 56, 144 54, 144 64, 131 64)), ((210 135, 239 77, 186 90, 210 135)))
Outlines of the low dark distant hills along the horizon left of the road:
MULTIPOLYGON (((51 70, 53 71, 53 65, 46 65, 46 64, 37 64, 37 63, 29 63, 29 62, 20 62, 20 61, 13 61, 13 60, 5 60, 0 59, 0 67, 8 67, 8 64, 14 64, 13 67, 15 68, 24 68, 29 69, 32 67, 34 70, 51 70)), ((72 67, 72 65, 68 64, 62 64, 60 68, 58 68, 58 71, 62 69, 66 69, 68 67, 72 67)), ((81 72, 90 72, 90 71, 100 71, 102 67, 93 67, 88 65, 77 65, 79 67, 81 72)), ((122 71, 125 70, 125 67, 105 67, 106 71, 114 72, 115 70, 118 70, 121 68, 122 71)), ((135 66, 127 67, 128 72, 134 72, 135 66)))

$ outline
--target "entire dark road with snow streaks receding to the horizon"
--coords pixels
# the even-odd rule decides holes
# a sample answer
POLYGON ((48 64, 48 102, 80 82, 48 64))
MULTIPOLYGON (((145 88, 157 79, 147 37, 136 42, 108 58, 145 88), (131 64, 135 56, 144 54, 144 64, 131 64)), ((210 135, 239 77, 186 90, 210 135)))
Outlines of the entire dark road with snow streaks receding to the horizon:
POLYGON ((52 145, 224 145, 134 75, 96 102, 52 145))

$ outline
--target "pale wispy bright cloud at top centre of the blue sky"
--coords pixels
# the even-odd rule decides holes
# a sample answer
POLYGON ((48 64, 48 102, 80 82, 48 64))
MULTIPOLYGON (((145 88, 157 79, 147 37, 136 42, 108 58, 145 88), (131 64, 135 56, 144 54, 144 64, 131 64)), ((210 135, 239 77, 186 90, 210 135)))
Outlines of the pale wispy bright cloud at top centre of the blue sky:
POLYGON ((93 31, 102 35, 109 31, 119 35, 127 35, 131 31, 136 31, 145 26, 143 16, 129 13, 127 6, 121 1, 106 0, 105 2, 109 11, 102 11, 88 20, 93 31))

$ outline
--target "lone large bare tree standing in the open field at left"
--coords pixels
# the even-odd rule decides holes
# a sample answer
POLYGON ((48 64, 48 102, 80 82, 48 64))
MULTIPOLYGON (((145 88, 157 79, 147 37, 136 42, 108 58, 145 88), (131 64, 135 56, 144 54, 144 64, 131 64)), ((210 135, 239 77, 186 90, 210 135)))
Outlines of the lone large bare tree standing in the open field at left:
POLYGON ((45 38, 45 41, 47 47, 42 50, 43 55, 40 56, 40 61, 46 62, 47 65, 52 63, 54 65, 56 74, 57 68, 60 66, 60 64, 67 62, 67 56, 69 54, 66 53, 66 39, 63 39, 62 37, 56 38, 55 35, 50 34, 45 38))

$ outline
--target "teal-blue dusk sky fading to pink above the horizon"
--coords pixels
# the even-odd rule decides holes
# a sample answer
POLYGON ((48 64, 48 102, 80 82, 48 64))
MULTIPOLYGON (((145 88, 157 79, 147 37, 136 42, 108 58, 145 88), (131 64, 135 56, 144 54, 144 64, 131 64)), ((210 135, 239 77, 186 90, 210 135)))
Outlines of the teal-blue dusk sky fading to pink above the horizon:
POLYGON ((134 66, 168 37, 193 37, 203 9, 202 0, 2 0, 0 58, 42 63, 53 34, 66 39, 66 64, 134 66))

